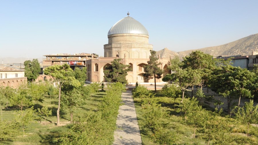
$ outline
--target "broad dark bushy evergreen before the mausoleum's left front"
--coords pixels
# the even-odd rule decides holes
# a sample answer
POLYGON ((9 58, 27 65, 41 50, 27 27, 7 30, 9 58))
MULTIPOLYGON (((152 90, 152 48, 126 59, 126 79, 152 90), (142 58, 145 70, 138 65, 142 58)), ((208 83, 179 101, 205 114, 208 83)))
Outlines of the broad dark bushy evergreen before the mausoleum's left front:
POLYGON ((120 82, 127 84, 126 76, 127 72, 130 71, 129 65, 120 63, 122 59, 114 59, 111 61, 110 66, 106 66, 104 70, 104 78, 107 82, 120 82))

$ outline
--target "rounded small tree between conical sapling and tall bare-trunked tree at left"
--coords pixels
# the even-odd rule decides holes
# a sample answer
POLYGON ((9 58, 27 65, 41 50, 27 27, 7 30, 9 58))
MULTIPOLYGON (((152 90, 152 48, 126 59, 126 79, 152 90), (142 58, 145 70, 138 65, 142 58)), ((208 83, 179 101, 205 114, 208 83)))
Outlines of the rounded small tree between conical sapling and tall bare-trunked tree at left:
POLYGON ((38 102, 42 103, 43 101, 43 95, 46 92, 46 86, 43 83, 40 83, 40 84, 30 83, 29 88, 30 88, 29 94, 30 96, 32 96, 32 100, 37 102, 37 106, 38 106, 38 102))

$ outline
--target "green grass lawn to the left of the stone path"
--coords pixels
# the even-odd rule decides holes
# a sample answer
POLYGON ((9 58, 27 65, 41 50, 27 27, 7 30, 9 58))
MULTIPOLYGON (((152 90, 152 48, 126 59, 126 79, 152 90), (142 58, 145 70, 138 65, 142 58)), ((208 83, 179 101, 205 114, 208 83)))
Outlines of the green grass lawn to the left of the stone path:
MULTIPOLYGON (((76 110, 74 117, 76 117, 77 113, 87 112, 89 110, 98 111, 98 104, 102 101, 102 96, 105 92, 99 92, 89 97, 86 100, 86 104, 78 107, 76 110)), ((62 126, 56 126, 56 110, 57 110, 57 96, 45 97, 44 101, 41 103, 34 105, 34 109, 41 108, 42 106, 47 106, 49 109, 52 109, 52 116, 47 117, 46 125, 44 125, 44 116, 38 116, 40 120, 34 120, 30 122, 30 125, 25 130, 25 137, 23 137, 22 129, 21 135, 12 138, 9 141, 0 141, 0 144, 9 144, 9 145, 37 145, 37 144, 56 144, 53 142, 53 139, 58 137, 62 132, 67 132, 72 125, 70 123, 70 114, 66 110, 60 111, 60 124, 62 126)), ((30 106, 31 107, 31 106, 30 106)), ((26 110, 27 108, 23 108, 26 110)), ((20 108, 18 107, 9 107, 7 109, 3 109, 3 120, 10 121, 19 112, 20 108)))

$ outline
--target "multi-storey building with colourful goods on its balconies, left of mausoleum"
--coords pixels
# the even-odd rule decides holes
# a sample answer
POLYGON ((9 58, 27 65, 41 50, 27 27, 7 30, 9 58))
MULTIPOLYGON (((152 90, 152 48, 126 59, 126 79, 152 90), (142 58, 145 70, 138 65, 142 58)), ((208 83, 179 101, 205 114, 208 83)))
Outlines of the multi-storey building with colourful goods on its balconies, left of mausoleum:
POLYGON ((85 67, 86 60, 99 57, 97 54, 89 53, 75 53, 75 54, 55 54, 55 55, 43 55, 43 68, 51 65, 63 65, 69 64, 72 69, 75 66, 85 67))

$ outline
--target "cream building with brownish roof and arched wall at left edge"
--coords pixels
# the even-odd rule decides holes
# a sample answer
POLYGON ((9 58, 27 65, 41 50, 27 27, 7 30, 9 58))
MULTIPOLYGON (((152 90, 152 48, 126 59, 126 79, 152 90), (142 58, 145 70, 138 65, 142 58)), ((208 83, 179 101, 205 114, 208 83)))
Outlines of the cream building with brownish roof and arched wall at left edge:
POLYGON ((24 77, 24 69, 13 66, 0 65, 0 85, 17 88, 20 83, 27 82, 24 77))

